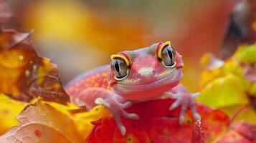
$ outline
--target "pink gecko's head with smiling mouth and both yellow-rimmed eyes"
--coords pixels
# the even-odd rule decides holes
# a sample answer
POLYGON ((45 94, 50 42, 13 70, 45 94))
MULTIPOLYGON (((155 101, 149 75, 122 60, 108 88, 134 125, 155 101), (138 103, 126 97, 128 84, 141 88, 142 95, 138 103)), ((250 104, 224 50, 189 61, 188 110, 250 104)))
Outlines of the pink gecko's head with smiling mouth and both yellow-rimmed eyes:
POLYGON ((161 97, 182 78, 181 55, 169 41, 113 54, 111 60, 108 82, 126 99, 146 101, 161 97))

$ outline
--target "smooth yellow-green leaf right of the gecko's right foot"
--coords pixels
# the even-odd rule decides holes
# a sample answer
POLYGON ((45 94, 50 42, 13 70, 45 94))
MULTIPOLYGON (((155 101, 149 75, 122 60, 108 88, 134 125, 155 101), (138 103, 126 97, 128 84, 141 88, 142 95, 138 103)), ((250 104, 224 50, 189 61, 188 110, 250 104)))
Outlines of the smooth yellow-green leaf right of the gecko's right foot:
POLYGON ((214 79, 202 89, 202 95, 197 100, 215 108, 248 104, 249 101, 240 81, 240 77, 234 74, 214 79))

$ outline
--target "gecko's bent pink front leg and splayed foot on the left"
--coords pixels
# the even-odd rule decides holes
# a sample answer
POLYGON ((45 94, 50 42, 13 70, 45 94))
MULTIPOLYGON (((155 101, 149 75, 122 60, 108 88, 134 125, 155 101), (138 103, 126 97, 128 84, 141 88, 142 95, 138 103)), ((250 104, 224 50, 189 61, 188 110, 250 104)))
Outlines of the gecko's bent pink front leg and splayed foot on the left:
POLYGON ((71 102, 80 107, 86 107, 90 110, 96 105, 103 105, 110 109, 115 122, 124 136, 126 129, 123 126, 120 115, 128 119, 139 119, 137 114, 125 112, 124 109, 131 107, 132 103, 126 101, 123 97, 118 96, 115 92, 99 87, 91 87, 83 90, 76 97, 71 97, 71 102))

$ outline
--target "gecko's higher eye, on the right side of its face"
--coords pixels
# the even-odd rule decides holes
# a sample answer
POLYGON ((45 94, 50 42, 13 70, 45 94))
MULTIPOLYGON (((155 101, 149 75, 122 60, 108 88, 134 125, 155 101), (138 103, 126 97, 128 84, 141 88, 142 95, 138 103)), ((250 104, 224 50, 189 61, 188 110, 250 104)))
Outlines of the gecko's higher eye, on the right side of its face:
POLYGON ((161 63, 165 67, 172 68, 176 66, 176 51, 171 46, 171 44, 163 44, 163 46, 158 51, 158 59, 161 60, 161 63))

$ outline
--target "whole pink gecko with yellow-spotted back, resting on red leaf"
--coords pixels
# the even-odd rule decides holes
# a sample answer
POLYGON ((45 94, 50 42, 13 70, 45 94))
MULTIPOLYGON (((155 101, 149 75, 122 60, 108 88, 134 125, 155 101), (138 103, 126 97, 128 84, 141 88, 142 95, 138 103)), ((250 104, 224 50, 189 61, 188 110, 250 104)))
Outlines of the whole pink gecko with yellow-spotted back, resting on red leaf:
POLYGON ((108 66, 88 71, 67 84, 71 102, 92 109, 96 105, 108 107, 115 117, 121 134, 125 135, 120 115, 139 119, 137 114, 125 112, 133 103, 152 99, 175 98, 169 110, 181 105, 179 123, 184 121, 190 107, 194 118, 194 97, 180 83, 183 76, 183 61, 169 41, 157 43, 135 51, 122 51, 111 56, 108 66))

